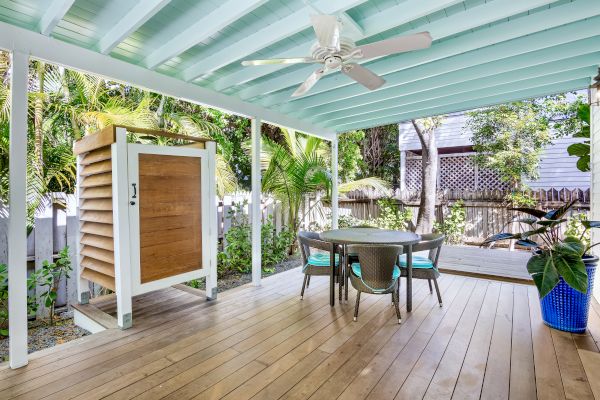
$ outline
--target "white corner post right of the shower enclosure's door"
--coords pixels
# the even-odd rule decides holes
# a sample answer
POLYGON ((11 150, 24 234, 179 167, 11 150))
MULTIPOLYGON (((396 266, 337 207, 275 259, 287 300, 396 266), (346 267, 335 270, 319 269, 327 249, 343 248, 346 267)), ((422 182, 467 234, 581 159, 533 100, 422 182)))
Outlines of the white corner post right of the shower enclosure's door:
POLYGON ((206 150, 208 151, 208 198, 210 199, 210 212, 208 216, 210 244, 210 262, 209 272, 206 276, 206 299, 217 299, 217 246, 219 240, 219 227, 217 222, 218 199, 217 199, 217 181, 216 181, 216 154, 217 144, 215 142, 206 142, 206 150))

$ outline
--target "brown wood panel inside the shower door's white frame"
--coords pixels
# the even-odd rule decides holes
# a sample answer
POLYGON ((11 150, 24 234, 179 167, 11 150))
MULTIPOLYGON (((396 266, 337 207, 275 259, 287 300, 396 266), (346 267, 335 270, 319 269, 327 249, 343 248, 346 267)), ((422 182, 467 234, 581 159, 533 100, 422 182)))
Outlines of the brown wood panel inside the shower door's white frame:
POLYGON ((142 283, 202 268, 200 161, 139 155, 142 283))

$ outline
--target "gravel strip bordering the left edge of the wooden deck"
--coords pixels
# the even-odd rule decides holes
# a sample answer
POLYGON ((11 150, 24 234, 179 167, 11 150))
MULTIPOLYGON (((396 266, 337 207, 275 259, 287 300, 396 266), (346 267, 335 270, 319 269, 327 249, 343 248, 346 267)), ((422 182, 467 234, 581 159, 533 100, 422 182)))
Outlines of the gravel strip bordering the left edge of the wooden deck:
MULTIPOLYGON (((274 272, 263 272, 263 277, 297 268, 301 264, 302 259, 300 255, 294 254, 285 261, 277 264, 274 272)), ((252 274, 229 274, 219 278, 218 291, 224 292, 250 282, 252 282, 252 274)), ((198 286, 200 289, 204 289, 203 279, 198 282, 198 286)), ((73 311, 58 314, 55 318, 54 326, 50 326, 49 320, 30 321, 28 338, 29 353, 79 339, 89 334, 88 331, 79 328, 73 323, 73 311)), ((3 337, 0 339, 0 362, 6 360, 8 360, 8 338, 3 337)))

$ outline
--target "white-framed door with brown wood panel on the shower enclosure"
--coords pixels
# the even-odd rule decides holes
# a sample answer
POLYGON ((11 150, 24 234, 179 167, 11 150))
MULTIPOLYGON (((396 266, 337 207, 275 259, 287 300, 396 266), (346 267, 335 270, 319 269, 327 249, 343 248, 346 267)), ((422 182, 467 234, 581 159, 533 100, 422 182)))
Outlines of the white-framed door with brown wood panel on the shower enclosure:
POLYGON ((204 276, 204 150, 129 146, 134 294, 204 276))

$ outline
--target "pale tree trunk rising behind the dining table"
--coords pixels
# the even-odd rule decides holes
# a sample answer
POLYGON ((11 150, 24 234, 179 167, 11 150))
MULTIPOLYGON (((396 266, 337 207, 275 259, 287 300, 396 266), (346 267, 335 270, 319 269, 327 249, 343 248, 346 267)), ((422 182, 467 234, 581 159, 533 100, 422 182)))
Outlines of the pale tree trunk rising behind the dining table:
POLYGON ((435 130, 422 129, 412 121, 421 142, 421 200, 417 215, 417 233, 430 233, 435 222, 435 202, 437 196, 438 151, 435 143, 435 130))

